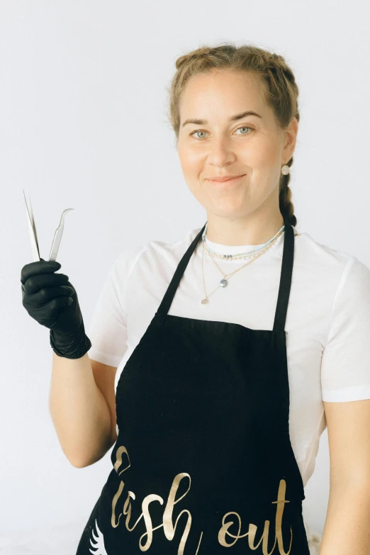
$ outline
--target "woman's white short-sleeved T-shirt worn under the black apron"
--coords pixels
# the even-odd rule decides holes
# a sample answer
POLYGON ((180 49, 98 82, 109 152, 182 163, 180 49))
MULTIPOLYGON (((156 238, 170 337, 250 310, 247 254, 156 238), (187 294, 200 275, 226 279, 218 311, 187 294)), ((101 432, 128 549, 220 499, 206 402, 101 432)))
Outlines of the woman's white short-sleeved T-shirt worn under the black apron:
MULTIPOLYGON (((203 227, 203 225, 201 226, 203 227)), ((128 358, 145 333, 190 243, 153 240, 122 252, 113 262, 86 334, 89 358, 117 366, 115 389, 128 358)), ((295 233, 291 293, 285 330, 290 388, 289 431, 303 485, 315 469, 320 435, 327 426, 323 400, 370 398, 370 269, 356 257, 295 233)), ((219 245, 213 251, 234 254, 257 245, 219 245)), ((225 288, 204 298, 201 240, 192 254, 168 313, 186 318, 238 323, 272 330, 279 292, 284 233, 262 256, 237 271, 225 288)), ((215 259, 229 273, 247 259, 215 259)), ((222 275, 204 255, 206 291, 222 275)), ((145 387, 145 383, 142 384, 145 387)), ((117 429, 118 433, 118 429, 117 429)))

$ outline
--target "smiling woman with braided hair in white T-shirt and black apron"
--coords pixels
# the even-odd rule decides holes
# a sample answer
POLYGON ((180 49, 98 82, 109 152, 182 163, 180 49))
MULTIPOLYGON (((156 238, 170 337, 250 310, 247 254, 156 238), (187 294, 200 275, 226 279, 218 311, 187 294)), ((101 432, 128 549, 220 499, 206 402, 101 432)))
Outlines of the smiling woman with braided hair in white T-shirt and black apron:
MULTIPOLYGON (((57 357, 86 361, 89 351, 93 368, 116 375, 113 469, 77 555, 309 554, 302 500, 326 425, 320 554, 340 555, 349 537, 365 554, 370 270, 296 231, 293 72, 279 55, 233 45, 190 52, 176 69, 169 118, 206 223, 120 254, 92 347, 69 281, 59 291, 68 284, 74 302, 43 322, 57 357)), ((46 262, 29 264, 34 273, 35 264, 49 280, 63 276, 46 262)))

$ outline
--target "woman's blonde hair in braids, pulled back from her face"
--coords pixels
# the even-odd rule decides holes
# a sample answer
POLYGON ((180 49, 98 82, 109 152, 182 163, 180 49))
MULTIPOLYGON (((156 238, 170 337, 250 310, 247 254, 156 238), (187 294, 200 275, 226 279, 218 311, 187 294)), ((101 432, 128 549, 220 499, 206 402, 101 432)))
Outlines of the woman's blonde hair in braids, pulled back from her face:
MULTIPOLYGON (((288 127, 292 118, 299 121, 298 93, 293 72, 284 57, 254 45, 237 47, 230 43, 218 46, 201 46, 176 60, 176 73, 167 92, 169 94, 169 112, 167 118, 176 135, 176 146, 179 140, 181 93, 188 79, 195 74, 206 73, 212 69, 228 69, 245 71, 256 77, 264 100, 272 108, 276 122, 281 130, 288 127)), ((293 156, 286 164, 291 167, 293 156)), ((280 176, 279 208, 281 215, 291 225, 296 226, 294 206, 291 202, 289 187, 290 174, 280 176)))

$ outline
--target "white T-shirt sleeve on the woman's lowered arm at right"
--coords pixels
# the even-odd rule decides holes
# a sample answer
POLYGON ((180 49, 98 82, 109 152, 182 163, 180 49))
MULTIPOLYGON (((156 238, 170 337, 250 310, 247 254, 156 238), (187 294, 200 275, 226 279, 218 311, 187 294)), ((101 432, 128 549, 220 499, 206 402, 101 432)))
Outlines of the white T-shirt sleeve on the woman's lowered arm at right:
POLYGON ((324 401, 370 398, 370 269, 351 257, 332 308, 321 361, 324 401))

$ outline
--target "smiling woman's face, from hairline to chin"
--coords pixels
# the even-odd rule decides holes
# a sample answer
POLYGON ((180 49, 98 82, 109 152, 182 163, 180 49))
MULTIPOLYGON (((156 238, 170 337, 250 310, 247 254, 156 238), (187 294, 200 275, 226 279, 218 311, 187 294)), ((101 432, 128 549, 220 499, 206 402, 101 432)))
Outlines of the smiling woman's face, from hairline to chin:
POLYGON ((281 166, 293 155, 298 122, 281 132, 262 92, 247 72, 196 74, 180 99, 179 159, 186 184, 207 211, 242 217, 279 211, 281 166), (240 114, 253 111, 257 115, 240 114), (187 120, 198 120, 187 123, 187 120), (200 121, 203 120, 203 121, 200 121), (240 176, 214 182, 214 176, 240 176))

